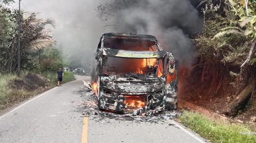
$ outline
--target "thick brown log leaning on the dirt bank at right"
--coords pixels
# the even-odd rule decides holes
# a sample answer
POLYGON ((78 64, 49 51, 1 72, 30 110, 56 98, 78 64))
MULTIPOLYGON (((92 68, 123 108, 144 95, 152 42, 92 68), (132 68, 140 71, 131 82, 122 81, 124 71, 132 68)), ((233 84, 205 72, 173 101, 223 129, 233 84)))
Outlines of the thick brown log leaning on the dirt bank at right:
POLYGON ((227 116, 235 116, 239 110, 246 106, 250 99, 253 100, 252 94, 255 94, 255 86, 256 79, 253 79, 252 82, 229 104, 229 107, 224 114, 227 116))

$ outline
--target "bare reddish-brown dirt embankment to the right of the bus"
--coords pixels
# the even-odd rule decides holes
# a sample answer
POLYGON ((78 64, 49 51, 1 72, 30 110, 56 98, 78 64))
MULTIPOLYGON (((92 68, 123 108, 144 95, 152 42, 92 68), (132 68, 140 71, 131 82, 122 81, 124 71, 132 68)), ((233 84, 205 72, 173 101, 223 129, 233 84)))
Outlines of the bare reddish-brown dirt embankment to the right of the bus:
MULTIPOLYGON (((179 99, 224 115, 231 103, 246 89, 241 88, 238 82, 239 75, 234 76, 230 73, 230 71, 238 73, 239 69, 214 61, 182 68, 179 72, 179 99)), ((240 103, 240 109, 231 116, 243 122, 256 124, 252 93, 247 97, 247 100, 240 103)))

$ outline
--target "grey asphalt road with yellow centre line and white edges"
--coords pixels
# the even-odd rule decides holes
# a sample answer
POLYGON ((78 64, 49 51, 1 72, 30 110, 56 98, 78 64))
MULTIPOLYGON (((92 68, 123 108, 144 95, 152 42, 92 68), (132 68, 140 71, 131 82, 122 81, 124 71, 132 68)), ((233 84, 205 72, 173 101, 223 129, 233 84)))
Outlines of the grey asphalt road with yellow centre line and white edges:
POLYGON ((0 143, 205 142, 173 120, 150 123, 81 116, 78 106, 82 100, 75 92, 83 87, 82 80, 89 79, 78 76, 0 113, 0 143))

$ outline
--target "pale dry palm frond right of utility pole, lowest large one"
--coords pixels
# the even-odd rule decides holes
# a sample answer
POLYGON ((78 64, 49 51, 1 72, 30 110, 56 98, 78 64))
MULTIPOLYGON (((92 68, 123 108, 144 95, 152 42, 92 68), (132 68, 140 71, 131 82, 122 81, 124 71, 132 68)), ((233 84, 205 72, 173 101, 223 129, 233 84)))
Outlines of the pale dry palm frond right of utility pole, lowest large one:
POLYGON ((39 50, 44 49, 45 47, 52 46, 56 43, 56 40, 50 39, 49 37, 38 38, 30 42, 30 47, 39 50))

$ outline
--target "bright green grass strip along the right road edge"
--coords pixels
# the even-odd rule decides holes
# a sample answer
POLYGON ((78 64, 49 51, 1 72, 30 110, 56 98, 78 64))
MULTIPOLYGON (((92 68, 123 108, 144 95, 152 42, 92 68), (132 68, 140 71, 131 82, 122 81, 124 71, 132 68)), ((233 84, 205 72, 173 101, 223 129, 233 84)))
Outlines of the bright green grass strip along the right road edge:
POLYGON ((256 143, 255 132, 243 124, 214 121, 192 111, 183 111, 177 120, 213 143, 256 143))

